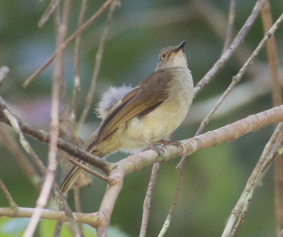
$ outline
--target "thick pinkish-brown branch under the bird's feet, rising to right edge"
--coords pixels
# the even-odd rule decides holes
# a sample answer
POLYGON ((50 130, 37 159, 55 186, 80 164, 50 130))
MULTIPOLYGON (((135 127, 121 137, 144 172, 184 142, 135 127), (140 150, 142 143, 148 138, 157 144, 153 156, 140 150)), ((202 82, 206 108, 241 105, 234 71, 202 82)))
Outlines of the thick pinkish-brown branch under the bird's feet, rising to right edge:
POLYGON ((158 156, 157 152, 154 150, 147 150, 139 154, 128 156, 115 164, 123 167, 126 175, 133 171, 139 171, 141 168, 155 162, 165 162, 173 158, 181 157, 182 155, 190 155, 198 150, 216 146, 225 141, 234 141, 248 132, 255 132, 269 124, 282 121, 283 105, 279 105, 263 112, 249 115, 246 118, 213 131, 181 140, 181 146, 163 146, 164 154, 162 156, 158 156))

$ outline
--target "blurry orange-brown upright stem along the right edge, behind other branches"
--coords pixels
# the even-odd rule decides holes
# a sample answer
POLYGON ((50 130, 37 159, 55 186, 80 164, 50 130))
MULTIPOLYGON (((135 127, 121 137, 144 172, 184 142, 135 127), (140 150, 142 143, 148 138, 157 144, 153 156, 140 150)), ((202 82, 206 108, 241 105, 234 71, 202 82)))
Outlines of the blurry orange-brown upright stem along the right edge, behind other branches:
MULTIPOLYGON (((263 22, 263 29, 267 31, 272 26, 272 17, 270 12, 269 1, 266 1, 261 9, 261 17, 263 22)), ((277 106, 282 104, 281 85, 278 76, 278 55, 276 49, 275 36, 272 36, 267 42, 267 57, 269 67, 271 70, 271 85, 272 85, 272 99, 273 105, 277 106)), ((283 162, 282 155, 278 154, 275 157, 275 171, 274 171, 274 183, 275 183, 275 216, 277 223, 277 234, 283 228, 283 162)))

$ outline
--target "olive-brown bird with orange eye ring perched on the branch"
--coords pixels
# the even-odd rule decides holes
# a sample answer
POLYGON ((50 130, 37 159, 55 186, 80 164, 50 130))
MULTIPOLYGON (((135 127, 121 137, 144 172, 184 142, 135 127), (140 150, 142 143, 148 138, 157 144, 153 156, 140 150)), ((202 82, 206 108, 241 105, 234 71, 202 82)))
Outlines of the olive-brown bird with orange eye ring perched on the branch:
MULTIPOLYGON (((134 153, 150 147, 162 151, 154 143, 162 143, 180 126, 193 99, 185 43, 162 49, 155 71, 136 87, 110 88, 103 95, 97 109, 103 120, 82 146, 84 150, 100 158, 118 150, 134 153)), ((81 172, 72 167, 61 184, 62 193, 67 193, 81 172)))

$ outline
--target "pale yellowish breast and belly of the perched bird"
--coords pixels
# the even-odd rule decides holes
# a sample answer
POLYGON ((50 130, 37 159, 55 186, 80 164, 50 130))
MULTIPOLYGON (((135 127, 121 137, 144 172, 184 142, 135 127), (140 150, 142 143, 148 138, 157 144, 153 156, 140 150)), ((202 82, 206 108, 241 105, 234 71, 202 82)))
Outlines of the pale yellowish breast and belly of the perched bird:
POLYGON ((193 98, 190 70, 176 68, 169 88, 169 97, 153 111, 140 118, 136 116, 127 122, 125 133, 129 139, 123 144, 123 150, 130 150, 131 146, 137 145, 147 147, 143 142, 137 141, 138 137, 154 143, 172 133, 183 122, 193 98))

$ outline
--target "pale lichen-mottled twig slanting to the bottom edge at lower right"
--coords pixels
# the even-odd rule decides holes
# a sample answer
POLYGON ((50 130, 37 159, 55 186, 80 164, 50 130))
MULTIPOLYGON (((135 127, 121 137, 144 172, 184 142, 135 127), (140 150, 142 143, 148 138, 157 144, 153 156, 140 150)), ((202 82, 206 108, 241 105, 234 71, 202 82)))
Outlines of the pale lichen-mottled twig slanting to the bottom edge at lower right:
POLYGON ((237 232, 239 231, 241 225, 245 221, 245 217, 248 212, 248 207, 250 205, 250 201, 251 201, 251 198, 254 192, 254 188, 258 180, 260 180, 261 174, 263 173, 263 171, 265 171, 265 169, 271 163, 271 161, 276 156, 276 154, 278 154, 280 150, 282 151, 282 145, 283 145, 282 143, 283 134, 281 133, 282 129, 283 129, 283 122, 280 122, 278 126, 276 127, 275 131, 273 132, 268 143, 265 145, 263 153, 261 154, 261 157, 258 163, 256 164, 254 170, 252 171, 252 174, 250 175, 250 178, 248 179, 248 182, 246 183, 246 187, 239 201, 237 202, 236 206, 232 210, 232 214, 230 218, 228 219, 227 225, 221 237, 235 236, 237 232), (237 224, 235 225, 237 218, 238 218, 238 221, 237 221, 237 224))

